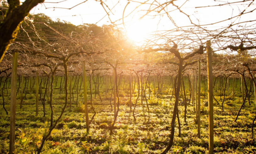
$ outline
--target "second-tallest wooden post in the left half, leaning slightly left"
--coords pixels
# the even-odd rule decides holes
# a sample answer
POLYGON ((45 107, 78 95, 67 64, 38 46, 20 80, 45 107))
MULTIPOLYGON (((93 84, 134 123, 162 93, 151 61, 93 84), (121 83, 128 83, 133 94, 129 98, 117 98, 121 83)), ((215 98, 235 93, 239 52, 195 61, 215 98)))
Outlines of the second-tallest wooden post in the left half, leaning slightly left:
POLYGON ((85 105, 85 121, 86 121, 86 132, 89 133, 89 115, 88 115, 88 104, 87 104, 87 85, 86 85, 86 70, 85 62, 83 61, 83 82, 84 82, 84 105, 85 105))

